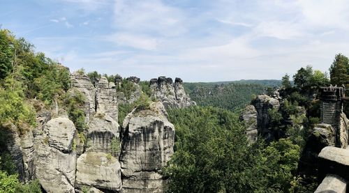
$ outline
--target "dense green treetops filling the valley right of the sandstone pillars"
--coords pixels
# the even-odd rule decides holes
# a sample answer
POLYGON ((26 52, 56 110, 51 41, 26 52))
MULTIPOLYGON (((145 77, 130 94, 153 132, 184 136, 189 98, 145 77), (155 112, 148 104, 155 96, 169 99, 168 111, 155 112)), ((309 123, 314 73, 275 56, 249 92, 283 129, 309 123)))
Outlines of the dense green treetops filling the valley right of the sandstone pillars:
POLYGON ((300 147, 290 139, 248 145, 237 114, 214 107, 168 111, 175 153, 168 192, 299 192, 300 147))

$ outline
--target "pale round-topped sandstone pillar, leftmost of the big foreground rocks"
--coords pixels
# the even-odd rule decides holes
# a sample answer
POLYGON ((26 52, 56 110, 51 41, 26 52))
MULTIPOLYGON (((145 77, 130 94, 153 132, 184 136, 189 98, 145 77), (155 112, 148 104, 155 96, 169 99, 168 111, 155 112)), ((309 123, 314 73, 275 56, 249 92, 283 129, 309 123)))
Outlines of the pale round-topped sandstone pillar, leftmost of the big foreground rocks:
POLYGON ((68 118, 54 118, 47 122, 43 134, 38 135, 36 177, 46 192, 74 192, 75 132, 68 118))

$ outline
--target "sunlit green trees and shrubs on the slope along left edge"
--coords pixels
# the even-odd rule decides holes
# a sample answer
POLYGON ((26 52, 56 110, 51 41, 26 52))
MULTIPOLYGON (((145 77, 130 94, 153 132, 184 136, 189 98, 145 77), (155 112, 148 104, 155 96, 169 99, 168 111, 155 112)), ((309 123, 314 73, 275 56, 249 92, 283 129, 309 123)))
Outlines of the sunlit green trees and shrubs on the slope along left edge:
MULTIPOLYGON (((68 68, 34 52, 34 45, 0 30, 0 131, 24 133, 36 125, 36 111, 50 109, 68 90, 68 68)), ((0 141, 3 147, 6 139, 0 141)), ((8 152, 0 148, 0 192, 40 192, 38 182, 23 186, 8 164, 8 152), (7 161, 6 161, 7 160, 7 161)))

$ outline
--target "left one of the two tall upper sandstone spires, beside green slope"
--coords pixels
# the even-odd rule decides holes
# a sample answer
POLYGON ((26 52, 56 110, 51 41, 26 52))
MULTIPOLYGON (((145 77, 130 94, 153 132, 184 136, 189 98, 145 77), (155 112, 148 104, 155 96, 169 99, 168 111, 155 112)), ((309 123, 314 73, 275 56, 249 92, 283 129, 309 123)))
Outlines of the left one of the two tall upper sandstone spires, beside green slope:
POLYGON ((96 88, 87 75, 80 75, 78 72, 70 75, 70 87, 69 93, 73 94, 77 90, 84 94, 82 111, 86 115, 86 123, 89 123, 89 117, 96 111, 96 88))

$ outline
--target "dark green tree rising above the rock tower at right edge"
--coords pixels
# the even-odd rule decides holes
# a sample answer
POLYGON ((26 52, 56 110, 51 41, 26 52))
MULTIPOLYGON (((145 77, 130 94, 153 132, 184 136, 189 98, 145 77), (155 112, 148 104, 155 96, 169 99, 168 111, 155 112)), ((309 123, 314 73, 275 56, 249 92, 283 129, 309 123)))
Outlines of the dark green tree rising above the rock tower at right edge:
POLYGON ((349 62, 348 57, 343 54, 336 54, 334 61, 329 68, 331 84, 341 86, 349 80, 349 62))

